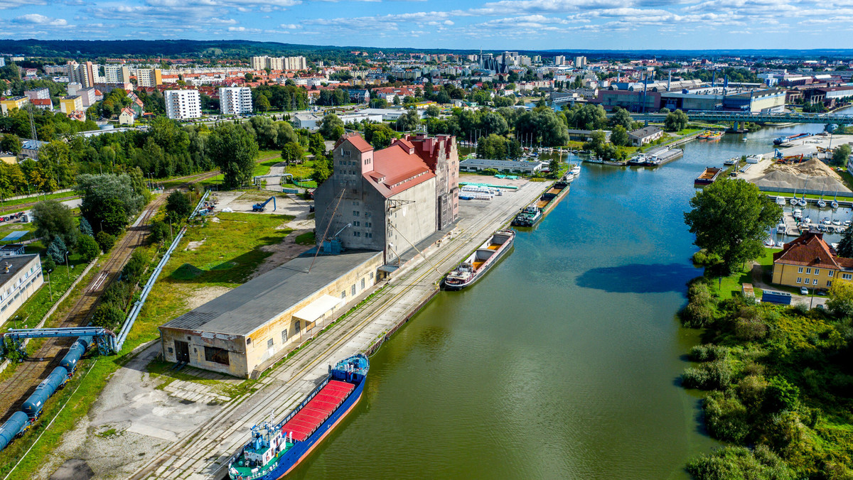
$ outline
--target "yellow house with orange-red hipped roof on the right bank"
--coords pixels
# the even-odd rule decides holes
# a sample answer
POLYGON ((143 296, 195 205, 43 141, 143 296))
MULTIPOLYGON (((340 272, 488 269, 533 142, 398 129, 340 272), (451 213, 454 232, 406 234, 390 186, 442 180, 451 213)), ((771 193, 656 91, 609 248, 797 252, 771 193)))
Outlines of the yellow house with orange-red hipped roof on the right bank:
POLYGON ((853 280, 853 258, 838 257, 821 233, 805 232, 773 254, 773 283, 829 288, 837 280, 853 280))

